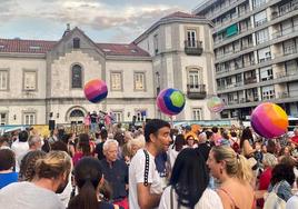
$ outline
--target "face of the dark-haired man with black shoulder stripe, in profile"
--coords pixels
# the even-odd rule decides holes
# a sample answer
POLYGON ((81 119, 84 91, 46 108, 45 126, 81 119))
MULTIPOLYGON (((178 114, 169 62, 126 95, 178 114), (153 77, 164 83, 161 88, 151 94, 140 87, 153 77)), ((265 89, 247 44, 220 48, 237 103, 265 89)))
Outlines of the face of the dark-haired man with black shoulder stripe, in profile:
POLYGON ((172 141, 169 127, 162 127, 156 135, 151 133, 151 136, 158 152, 168 151, 172 141))

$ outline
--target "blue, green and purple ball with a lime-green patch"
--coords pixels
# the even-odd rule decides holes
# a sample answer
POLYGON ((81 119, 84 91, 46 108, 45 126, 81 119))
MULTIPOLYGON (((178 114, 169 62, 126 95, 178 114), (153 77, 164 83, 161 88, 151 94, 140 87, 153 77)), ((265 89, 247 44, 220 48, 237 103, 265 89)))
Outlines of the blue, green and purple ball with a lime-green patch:
POLYGON ((157 97, 157 107, 161 112, 169 116, 175 116, 181 112, 185 104, 185 96, 178 89, 163 89, 157 97))

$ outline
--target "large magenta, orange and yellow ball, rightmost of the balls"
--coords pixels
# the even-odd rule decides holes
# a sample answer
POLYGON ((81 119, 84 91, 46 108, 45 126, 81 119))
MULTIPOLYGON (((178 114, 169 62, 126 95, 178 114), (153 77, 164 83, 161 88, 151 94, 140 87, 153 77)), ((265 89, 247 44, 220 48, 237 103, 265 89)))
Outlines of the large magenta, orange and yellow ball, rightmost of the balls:
POLYGON ((282 108, 275 103, 259 104, 251 113, 252 129, 261 137, 271 139, 280 137, 288 130, 288 116, 282 108))

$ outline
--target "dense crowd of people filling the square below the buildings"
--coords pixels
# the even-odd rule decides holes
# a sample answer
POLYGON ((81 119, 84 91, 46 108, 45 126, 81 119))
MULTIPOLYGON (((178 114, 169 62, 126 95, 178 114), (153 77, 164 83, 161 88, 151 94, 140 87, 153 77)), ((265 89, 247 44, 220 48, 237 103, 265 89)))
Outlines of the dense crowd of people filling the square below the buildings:
POLYGON ((298 128, 264 139, 249 127, 193 131, 160 119, 90 127, 1 136, 1 208, 298 208, 298 128))

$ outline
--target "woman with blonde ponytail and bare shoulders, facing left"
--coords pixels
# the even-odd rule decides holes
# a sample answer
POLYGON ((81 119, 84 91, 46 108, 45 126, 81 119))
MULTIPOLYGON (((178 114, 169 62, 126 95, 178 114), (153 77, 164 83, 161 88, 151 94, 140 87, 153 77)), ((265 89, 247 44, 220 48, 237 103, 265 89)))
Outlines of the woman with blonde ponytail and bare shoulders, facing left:
POLYGON ((252 170, 244 156, 228 146, 217 146, 211 149, 207 165, 211 175, 220 181, 217 193, 225 209, 256 207, 255 192, 250 185, 252 170))

